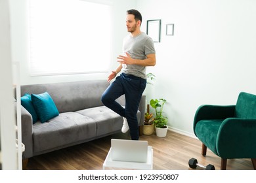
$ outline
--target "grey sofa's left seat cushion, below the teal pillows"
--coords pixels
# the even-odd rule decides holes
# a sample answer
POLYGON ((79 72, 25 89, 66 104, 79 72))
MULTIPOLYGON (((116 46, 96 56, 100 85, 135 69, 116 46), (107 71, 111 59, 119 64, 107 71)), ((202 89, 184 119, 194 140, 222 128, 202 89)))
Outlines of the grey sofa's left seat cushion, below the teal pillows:
POLYGON ((95 120, 75 112, 60 113, 49 123, 33 125, 33 155, 96 136, 95 120))

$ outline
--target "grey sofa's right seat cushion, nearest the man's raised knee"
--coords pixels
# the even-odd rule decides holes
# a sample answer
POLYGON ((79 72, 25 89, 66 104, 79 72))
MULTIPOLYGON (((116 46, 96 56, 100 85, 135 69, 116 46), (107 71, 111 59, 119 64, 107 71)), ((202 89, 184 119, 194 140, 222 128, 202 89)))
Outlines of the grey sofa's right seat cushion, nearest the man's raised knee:
MULTIPOLYGON (((106 106, 78 110, 77 113, 82 114, 83 116, 88 116, 95 120, 97 125, 97 136, 104 135, 108 133, 108 131, 121 131, 123 117, 106 106)), ((137 112, 137 118, 139 121, 139 111, 137 112)))

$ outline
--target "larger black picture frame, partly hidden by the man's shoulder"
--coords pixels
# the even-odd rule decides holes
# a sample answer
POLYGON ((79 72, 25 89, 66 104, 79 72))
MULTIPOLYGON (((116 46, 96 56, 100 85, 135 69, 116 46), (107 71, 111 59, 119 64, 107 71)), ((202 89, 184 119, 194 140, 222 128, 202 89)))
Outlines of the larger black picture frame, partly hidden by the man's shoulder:
POLYGON ((154 42, 161 41, 161 20, 147 20, 146 34, 153 39, 154 42))

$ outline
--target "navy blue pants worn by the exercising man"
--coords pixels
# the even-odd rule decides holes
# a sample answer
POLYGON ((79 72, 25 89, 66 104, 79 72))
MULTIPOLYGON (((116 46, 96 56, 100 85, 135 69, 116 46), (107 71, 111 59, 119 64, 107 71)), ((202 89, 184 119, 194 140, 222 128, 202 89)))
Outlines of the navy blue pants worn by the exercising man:
POLYGON ((102 94, 102 103, 127 119, 132 140, 139 140, 137 111, 145 88, 145 79, 121 73, 102 94), (116 99, 123 94, 125 95, 125 108, 116 102, 116 99))

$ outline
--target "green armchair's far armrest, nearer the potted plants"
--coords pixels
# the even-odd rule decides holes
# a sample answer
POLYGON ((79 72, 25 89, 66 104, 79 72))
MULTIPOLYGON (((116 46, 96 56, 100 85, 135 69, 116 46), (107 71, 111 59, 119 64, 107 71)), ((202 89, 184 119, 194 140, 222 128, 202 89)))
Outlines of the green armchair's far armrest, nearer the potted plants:
POLYGON ((201 105, 194 116, 193 129, 200 120, 217 120, 234 117, 236 105, 201 105))

